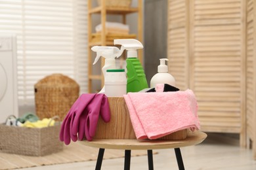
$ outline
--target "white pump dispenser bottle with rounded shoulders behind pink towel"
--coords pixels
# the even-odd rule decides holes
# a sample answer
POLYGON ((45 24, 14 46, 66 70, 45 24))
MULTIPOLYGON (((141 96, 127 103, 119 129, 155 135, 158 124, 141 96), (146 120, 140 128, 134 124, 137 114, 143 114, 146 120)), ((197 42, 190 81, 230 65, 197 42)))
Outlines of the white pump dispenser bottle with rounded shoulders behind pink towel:
POLYGON ((165 65, 167 58, 160 59, 160 65, 158 65, 158 73, 154 75, 150 80, 150 88, 155 88, 156 84, 169 84, 175 86, 175 78, 168 73, 168 67, 165 65))

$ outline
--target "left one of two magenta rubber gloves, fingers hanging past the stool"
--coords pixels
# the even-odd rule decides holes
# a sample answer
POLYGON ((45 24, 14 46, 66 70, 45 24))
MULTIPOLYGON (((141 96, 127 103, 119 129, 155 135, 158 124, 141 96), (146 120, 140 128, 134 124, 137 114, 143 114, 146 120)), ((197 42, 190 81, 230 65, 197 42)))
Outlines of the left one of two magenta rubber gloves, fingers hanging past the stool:
MULTIPOLYGON (((72 141, 77 141, 77 133, 72 133, 72 127, 74 126, 75 118, 83 114, 85 107, 87 107, 87 105, 93 100, 95 95, 96 94, 82 94, 75 101, 74 105, 72 105, 68 114, 64 118, 64 121, 62 122, 62 126, 60 129, 60 141, 64 141, 65 144, 70 144, 70 138, 72 139, 72 141)), ((86 116, 84 120, 86 120, 86 116)), ((84 129, 85 125, 75 124, 75 126, 82 126, 84 129)))

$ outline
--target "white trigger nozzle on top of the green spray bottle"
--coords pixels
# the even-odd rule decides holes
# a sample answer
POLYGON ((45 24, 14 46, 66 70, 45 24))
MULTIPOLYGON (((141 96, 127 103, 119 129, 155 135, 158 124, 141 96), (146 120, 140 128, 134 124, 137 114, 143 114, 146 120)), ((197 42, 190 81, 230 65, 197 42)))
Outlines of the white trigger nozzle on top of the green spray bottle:
POLYGON ((137 58, 137 50, 143 48, 142 43, 137 41, 137 39, 114 39, 114 44, 121 45, 118 56, 121 56, 123 51, 127 50, 127 58, 137 58))

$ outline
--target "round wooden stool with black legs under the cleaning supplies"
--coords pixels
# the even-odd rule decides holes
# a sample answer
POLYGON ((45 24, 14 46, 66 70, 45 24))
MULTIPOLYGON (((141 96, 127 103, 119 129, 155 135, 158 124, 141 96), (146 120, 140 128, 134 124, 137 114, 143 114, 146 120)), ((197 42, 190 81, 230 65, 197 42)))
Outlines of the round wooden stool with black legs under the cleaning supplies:
POLYGON ((130 169, 131 150, 148 150, 148 169, 153 170, 153 149, 174 148, 179 169, 184 169, 181 147, 202 143, 207 137, 202 131, 189 133, 182 140, 137 140, 137 139, 95 139, 94 141, 82 141, 87 146, 99 148, 96 170, 100 170, 105 148, 125 150, 125 170, 130 169))

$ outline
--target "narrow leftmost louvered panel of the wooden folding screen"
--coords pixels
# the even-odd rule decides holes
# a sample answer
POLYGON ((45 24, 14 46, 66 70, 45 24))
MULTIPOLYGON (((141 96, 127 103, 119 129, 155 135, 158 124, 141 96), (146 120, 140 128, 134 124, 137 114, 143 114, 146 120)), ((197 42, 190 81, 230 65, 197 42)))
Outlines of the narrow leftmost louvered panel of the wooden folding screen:
POLYGON ((167 56, 169 71, 175 76, 176 86, 188 88, 188 5, 186 1, 168 2, 167 56))

